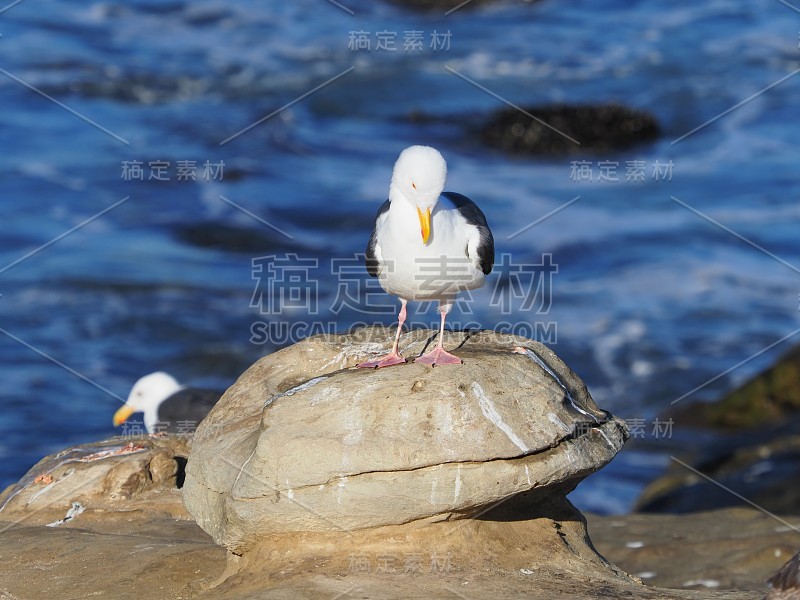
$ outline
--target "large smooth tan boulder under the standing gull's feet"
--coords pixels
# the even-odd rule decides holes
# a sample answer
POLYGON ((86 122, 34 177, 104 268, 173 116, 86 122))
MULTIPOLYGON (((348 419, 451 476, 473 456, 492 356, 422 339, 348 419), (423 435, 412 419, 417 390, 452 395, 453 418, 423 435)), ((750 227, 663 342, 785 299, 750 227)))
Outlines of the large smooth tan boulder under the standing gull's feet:
MULTIPOLYGON (((450 333, 461 366, 355 368, 392 337, 310 338, 227 391, 197 430, 184 487, 219 544, 241 554, 280 533, 458 519, 529 491, 563 497, 626 439, 537 342, 450 333)), ((416 356, 433 337, 405 334, 401 350, 416 356)))

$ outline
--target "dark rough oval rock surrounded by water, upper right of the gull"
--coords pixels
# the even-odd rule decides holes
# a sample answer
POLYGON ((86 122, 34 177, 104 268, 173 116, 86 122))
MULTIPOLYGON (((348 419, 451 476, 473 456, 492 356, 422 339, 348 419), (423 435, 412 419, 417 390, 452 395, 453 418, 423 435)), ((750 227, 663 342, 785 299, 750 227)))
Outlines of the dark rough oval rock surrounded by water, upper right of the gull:
POLYGON ((515 108, 498 111, 481 128, 481 140, 511 154, 558 156, 621 150, 660 134, 655 117, 618 104, 534 106, 525 111, 535 118, 515 108))

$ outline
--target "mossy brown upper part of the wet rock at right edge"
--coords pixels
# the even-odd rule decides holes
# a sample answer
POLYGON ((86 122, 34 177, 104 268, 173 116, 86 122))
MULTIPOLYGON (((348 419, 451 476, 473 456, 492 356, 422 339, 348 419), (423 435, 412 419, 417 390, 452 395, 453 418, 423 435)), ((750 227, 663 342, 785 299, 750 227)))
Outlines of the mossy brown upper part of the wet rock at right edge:
POLYGON ((697 427, 742 429, 778 423, 800 411, 800 346, 714 403, 693 402, 672 414, 697 427))

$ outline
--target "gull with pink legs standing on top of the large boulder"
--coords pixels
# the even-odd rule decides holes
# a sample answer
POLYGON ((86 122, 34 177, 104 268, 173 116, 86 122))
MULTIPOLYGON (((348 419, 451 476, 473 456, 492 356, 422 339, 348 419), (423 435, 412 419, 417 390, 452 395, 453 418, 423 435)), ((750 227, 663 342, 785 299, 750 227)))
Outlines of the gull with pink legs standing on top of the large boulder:
POLYGON ((400 299, 392 351, 360 363, 378 368, 405 362, 398 344, 409 300, 438 300, 436 347, 414 362, 461 364, 442 347, 444 323, 458 292, 482 287, 494 263, 494 238, 481 209, 469 198, 444 192, 447 163, 435 148, 410 146, 394 165, 389 199, 378 209, 367 244, 367 272, 400 299))

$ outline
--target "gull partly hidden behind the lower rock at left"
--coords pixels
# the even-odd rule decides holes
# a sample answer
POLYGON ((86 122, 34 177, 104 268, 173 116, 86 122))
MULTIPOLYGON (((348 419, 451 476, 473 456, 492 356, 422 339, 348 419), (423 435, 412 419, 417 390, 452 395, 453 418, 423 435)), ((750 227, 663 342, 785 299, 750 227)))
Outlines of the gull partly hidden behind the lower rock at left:
POLYGON ((147 433, 176 431, 179 422, 194 429, 221 396, 217 390, 184 387, 168 373, 157 371, 133 384, 128 400, 114 413, 114 426, 122 425, 133 413, 143 412, 147 433))

